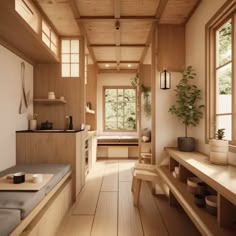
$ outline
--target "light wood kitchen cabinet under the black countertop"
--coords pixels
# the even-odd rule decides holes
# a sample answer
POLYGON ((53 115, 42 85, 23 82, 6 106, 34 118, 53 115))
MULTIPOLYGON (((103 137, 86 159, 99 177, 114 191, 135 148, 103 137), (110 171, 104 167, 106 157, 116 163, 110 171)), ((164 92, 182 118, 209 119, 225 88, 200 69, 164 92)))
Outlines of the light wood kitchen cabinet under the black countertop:
POLYGON ((85 183, 86 131, 16 133, 16 163, 63 163, 72 168, 73 200, 85 183))

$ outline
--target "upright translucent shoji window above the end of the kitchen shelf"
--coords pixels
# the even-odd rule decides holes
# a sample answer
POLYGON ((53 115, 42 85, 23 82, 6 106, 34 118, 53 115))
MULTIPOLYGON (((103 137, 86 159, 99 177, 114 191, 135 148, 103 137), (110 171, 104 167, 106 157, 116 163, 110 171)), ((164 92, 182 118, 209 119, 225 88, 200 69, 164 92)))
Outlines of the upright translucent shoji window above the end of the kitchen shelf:
POLYGON ((61 41, 61 76, 79 77, 79 39, 61 41))

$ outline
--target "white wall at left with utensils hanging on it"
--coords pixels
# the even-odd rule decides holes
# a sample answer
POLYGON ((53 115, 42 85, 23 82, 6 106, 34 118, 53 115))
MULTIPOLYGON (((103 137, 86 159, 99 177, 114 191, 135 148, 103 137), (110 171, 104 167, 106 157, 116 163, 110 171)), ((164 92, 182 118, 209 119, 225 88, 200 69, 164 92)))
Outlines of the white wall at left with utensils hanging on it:
POLYGON ((25 87, 30 90, 28 113, 19 114, 21 95, 21 62, 23 60, 0 45, 0 171, 16 162, 16 130, 28 129, 28 114, 32 114, 33 67, 25 62, 25 87))

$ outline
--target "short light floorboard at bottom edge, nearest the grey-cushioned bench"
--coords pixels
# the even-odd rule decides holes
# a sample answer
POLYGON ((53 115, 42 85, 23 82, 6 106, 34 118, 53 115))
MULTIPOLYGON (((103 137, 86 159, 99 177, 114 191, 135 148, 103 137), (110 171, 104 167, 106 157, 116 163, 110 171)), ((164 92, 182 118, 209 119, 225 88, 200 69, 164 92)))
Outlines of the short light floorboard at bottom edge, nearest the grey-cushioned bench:
POLYGON ((71 215, 64 220, 63 226, 57 232, 57 236, 89 236, 92 223, 93 216, 71 215))

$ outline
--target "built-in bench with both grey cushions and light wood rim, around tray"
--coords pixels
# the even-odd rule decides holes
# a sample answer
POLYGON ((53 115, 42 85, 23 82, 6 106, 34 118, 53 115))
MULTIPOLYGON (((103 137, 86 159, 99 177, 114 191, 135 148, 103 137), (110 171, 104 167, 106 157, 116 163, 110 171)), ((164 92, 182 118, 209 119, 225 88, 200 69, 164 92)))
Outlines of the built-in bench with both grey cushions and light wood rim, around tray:
POLYGON ((0 235, 9 235, 9 232, 27 218, 70 171, 71 167, 67 164, 27 164, 17 165, 0 172, 0 177, 16 172, 53 174, 49 182, 39 191, 0 191, 0 219, 5 217, 4 221, 9 221, 9 227, 11 227, 6 228, 4 221, 0 220, 0 235))

